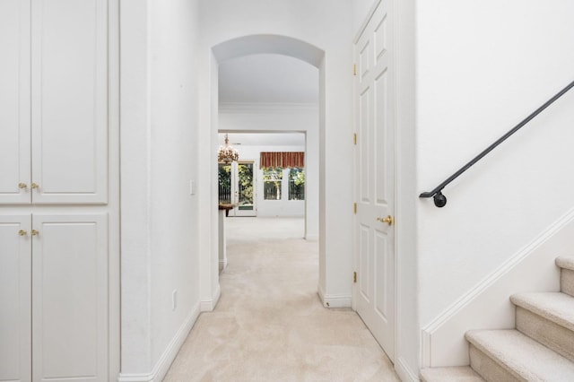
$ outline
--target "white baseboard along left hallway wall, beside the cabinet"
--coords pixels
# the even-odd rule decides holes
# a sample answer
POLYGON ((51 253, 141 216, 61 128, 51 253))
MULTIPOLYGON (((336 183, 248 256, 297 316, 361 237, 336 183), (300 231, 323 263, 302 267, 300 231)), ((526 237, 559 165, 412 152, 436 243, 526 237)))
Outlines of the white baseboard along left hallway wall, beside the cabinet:
POLYGON ((183 325, 179 327, 178 332, 173 336, 170 344, 166 347, 165 351, 161 354, 160 359, 157 361, 152 371, 149 373, 120 373, 117 382, 161 382, 170 369, 171 362, 175 360, 178 355, 181 345, 187 338, 187 334, 196 323, 199 317, 199 304, 196 304, 191 309, 189 316, 187 316, 183 325))

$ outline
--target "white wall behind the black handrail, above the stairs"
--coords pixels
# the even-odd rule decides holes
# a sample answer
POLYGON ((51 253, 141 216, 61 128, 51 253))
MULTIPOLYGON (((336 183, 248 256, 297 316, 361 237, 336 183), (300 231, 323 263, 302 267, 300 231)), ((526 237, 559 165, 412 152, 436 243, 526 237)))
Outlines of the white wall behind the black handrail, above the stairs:
MULTIPOLYGON (((573 13, 568 0, 418 3, 418 192, 574 80, 573 13)), ((574 206, 572 105, 574 93, 446 187, 444 208, 416 202, 422 326, 574 206)))

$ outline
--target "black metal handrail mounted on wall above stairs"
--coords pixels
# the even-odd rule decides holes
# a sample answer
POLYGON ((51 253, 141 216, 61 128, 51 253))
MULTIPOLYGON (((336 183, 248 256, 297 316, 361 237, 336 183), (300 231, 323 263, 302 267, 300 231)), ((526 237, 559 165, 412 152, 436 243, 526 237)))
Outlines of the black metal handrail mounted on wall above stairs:
POLYGON ((532 113, 531 115, 529 115, 528 117, 526 117, 522 122, 520 122, 517 126, 514 126, 507 134, 502 135, 500 137, 500 139, 498 141, 496 141, 495 143, 492 143, 490 146, 488 146, 483 152, 481 152, 480 154, 476 155, 474 157, 474 159, 472 161, 469 161, 468 163, 466 163, 462 168, 460 168, 457 172, 455 172, 453 175, 451 175, 447 180, 445 180, 444 182, 440 183, 439 186, 435 187, 432 191, 427 191, 427 192, 423 192, 421 195, 419 195, 419 197, 433 197, 434 199, 434 205, 436 205, 437 207, 444 207, 447 204, 447 196, 442 195, 442 189, 444 187, 446 187, 448 185, 448 183, 452 182, 453 180, 455 180, 456 178, 458 178, 459 175, 461 175, 463 172, 465 172, 467 169, 470 169, 474 163, 476 163, 477 161, 480 161, 481 159, 483 159, 483 157, 488 154, 489 152, 491 152, 492 150, 494 150, 494 148, 496 146, 498 146, 500 143, 503 143, 504 141, 507 140, 507 138, 509 138, 510 135, 513 135, 514 133, 516 133, 518 130, 520 130, 520 128, 522 126, 525 126, 528 122, 530 122, 534 117, 536 117, 538 114, 540 114, 544 109, 548 108, 550 105, 552 105, 552 103, 555 100, 558 100, 559 98, 561 98, 561 96, 563 96, 567 91, 570 91, 570 89, 572 89, 574 87, 574 81, 570 82, 570 84, 568 86, 566 86, 564 89, 562 89, 561 91, 559 91, 554 97, 552 97, 550 100, 546 101, 544 103, 543 106, 541 106, 540 108, 536 109, 534 113, 532 113))

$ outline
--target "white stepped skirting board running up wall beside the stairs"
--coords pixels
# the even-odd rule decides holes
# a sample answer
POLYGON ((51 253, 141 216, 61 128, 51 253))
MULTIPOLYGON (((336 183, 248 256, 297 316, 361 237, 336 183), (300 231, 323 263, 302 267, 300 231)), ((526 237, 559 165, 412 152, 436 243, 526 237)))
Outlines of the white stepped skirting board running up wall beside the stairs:
POLYGON ((560 291, 560 271, 554 259, 571 253, 572 237, 574 209, 422 327, 422 367, 468 365, 464 335, 469 329, 514 328, 510 295, 521 291, 560 291))

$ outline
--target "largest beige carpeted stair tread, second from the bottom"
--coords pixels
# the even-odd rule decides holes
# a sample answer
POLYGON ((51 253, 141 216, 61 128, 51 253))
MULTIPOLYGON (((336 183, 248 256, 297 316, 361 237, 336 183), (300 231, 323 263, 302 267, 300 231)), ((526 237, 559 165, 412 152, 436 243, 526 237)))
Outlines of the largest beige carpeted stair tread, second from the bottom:
POLYGON ((472 330, 465 338, 518 379, 566 382, 574 378, 573 362, 517 330, 472 330))

